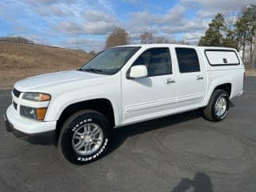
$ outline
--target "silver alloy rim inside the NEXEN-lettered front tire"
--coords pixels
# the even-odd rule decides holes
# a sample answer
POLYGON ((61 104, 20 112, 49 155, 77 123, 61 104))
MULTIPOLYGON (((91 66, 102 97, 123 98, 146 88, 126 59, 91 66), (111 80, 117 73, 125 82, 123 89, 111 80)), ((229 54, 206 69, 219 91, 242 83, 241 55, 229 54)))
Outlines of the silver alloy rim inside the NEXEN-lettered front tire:
POLYGON ((95 123, 86 123, 74 131, 72 146, 75 152, 82 155, 93 154, 102 145, 103 131, 95 123))

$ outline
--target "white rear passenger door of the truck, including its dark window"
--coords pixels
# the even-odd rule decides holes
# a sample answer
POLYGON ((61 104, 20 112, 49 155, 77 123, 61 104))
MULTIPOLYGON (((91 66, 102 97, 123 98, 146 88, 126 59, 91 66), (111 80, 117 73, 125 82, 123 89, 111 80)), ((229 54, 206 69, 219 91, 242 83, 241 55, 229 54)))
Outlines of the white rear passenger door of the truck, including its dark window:
POLYGON ((178 63, 178 106, 197 106, 205 95, 206 74, 194 48, 175 47, 178 63))

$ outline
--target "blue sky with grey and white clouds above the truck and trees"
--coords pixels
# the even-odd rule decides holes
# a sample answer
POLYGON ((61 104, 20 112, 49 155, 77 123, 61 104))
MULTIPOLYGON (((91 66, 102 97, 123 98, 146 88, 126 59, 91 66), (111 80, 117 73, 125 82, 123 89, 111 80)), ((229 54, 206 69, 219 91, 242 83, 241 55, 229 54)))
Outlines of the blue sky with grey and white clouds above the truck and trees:
POLYGON ((232 14, 255 0, 0 0, 0 37, 22 36, 38 44, 102 50, 122 27, 130 43, 146 31, 198 43, 217 13, 232 14))

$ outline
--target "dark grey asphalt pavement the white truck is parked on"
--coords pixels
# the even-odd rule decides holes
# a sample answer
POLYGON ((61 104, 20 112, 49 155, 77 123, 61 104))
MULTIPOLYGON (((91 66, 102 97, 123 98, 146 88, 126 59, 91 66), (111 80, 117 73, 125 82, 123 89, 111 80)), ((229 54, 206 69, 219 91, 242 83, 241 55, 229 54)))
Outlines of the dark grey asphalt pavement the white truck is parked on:
MULTIPOLYGON (((0 115, 10 90, 0 90, 0 115)), ((256 191, 256 78, 223 122, 200 111, 126 126, 110 154, 74 166, 48 140, 15 138, 0 122, 0 191, 256 191)))

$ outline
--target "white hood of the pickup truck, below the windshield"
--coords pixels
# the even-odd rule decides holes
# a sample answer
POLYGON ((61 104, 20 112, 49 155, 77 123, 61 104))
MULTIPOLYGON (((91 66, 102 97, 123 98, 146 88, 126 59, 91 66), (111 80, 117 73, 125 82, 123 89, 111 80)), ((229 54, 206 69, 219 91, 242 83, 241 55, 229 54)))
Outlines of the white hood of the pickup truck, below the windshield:
POLYGON ((42 74, 31 78, 25 78, 16 82, 14 87, 20 91, 37 91, 42 88, 60 86, 68 82, 77 82, 94 78, 102 78, 106 75, 93 74, 79 70, 68 70, 52 74, 42 74))

